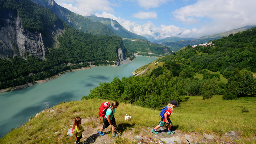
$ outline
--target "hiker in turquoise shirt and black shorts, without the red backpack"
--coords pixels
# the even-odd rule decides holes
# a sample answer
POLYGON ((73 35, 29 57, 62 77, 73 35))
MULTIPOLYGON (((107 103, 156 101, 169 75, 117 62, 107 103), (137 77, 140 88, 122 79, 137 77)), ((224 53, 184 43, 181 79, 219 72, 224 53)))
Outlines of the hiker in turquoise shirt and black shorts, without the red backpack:
POLYGON ((98 133, 103 136, 105 135, 102 131, 107 128, 109 125, 112 128, 112 135, 111 137, 117 137, 118 134, 115 134, 116 130, 116 120, 114 117, 115 109, 118 107, 119 103, 118 102, 113 102, 109 105, 108 109, 106 110, 106 115, 103 118, 103 123, 104 125, 100 128, 98 133))

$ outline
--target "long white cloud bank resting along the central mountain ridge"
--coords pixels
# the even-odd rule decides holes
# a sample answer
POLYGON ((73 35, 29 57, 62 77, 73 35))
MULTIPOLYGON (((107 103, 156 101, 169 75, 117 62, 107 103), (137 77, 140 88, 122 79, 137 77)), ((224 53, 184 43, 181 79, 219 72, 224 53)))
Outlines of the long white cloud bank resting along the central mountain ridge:
POLYGON ((102 14, 96 13, 95 15, 97 17, 105 17, 105 18, 111 18, 113 20, 116 20, 128 31, 136 33, 137 35, 144 36, 148 39, 154 39, 154 40, 170 37, 186 30, 186 29, 176 27, 174 25, 169 25, 169 26, 161 25, 160 27, 156 27, 151 21, 148 21, 143 25, 139 25, 135 22, 131 22, 129 20, 116 17, 113 14, 110 14, 107 12, 102 12, 102 14))

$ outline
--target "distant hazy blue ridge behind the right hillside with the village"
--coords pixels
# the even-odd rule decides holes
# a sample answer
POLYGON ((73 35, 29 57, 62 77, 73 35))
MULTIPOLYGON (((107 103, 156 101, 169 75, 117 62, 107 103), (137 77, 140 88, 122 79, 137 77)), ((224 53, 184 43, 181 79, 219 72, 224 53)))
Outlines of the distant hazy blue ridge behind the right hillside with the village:
POLYGON ((252 27, 255 27, 255 26, 244 26, 244 27, 241 27, 241 28, 238 28, 238 29, 233 29, 233 30, 230 30, 230 31, 217 33, 217 34, 213 34, 213 35, 209 35, 209 36, 205 36, 205 37, 201 37, 201 38, 193 39, 193 40, 181 40, 181 41, 176 41, 176 42, 166 41, 166 42, 162 42, 161 44, 164 45, 164 46, 169 47, 172 51, 176 52, 179 49, 181 49, 181 48, 183 48, 184 46, 187 46, 187 45, 198 45, 200 43, 205 43, 205 42, 208 42, 210 40, 212 41, 212 40, 215 40, 215 39, 222 38, 223 36, 226 37, 226 36, 228 36, 229 34, 232 34, 232 33, 234 34, 234 33, 237 33, 239 31, 240 32, 245 31, 245 30, 250 29, 252 27))

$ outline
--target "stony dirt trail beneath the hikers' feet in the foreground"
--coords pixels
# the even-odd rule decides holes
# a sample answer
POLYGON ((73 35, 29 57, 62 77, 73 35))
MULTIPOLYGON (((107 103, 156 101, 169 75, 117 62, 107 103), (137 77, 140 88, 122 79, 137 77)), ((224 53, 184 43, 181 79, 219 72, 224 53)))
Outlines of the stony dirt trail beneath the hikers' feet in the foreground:
MULTIPOLYGON (((71 122, 72 123, 72 122, 71 122)), ((82 126, 84 128, 83 132, 83 138, 80 140, 83 143, 86 144, 101 144, 101 143, 112 143, 116 140, 116 138, 111 138, 111 130, 110 127, 106 128, 103 132, 105 133, 104 136, 100 136, 97 131, 101 128, 103 125, 102 120, 99 121, 98 118, 85 118, 82 119, 82 126)), ((182 144, 194 144, 194 143, 214 143, 216 141, 221 143, 228 143, 228 144, 235 144, 232 142, 232 139, 240 139, 240 133, 235 132, 235 135, 223 135, 223 136, 216 136, 213 135, 213 139, 207 139, 204 135, 202 135, 200 132, 190 132, 185 133, 181 130, 177 130, 177 127, 172 126, 172 130, 175 131, 175 134, 168 135, 168 127, 160 127, 157 132, 158 134, 153 134, 150 130, 152 128, 150 127, 140 127, 135 129, 134 125, 128 124, 128 123, 117 123, 117 130, 119 137, 128 138, 129 140, 134 140, 137 142, 143 142, 143 143, 159 143, 158 141, 163 138, 174 138, 179 137, 180 142, 182 144), (190 139, 190 142, 185 138, 187 136, 190 139), (137 137, 137 138, 136 138, 137 137), (152 142, 151 142, 152 141, 152 142)), ((165 140, 165 139, 163 139, 165 140)), ((74 141, 75 142, 75 141, 74 141)), ((172 142, 173 144, 178 144, 178 142, 172 142)))

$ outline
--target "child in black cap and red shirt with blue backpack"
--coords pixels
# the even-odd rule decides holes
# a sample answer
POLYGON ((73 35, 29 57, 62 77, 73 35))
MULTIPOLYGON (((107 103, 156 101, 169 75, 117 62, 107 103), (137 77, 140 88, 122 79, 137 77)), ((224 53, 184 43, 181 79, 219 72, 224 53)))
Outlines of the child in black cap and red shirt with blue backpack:
POLYGON ((172 121, 170 120, 170 115, 173 112, 173 108, 175 107, 179 107, 179 105, 177 104, 177 102, 175 100, 170 101, 170 103, 168 103, 168 105, 163 108, 161 110, 160 116, 161 116, 161 121, 159 122, 159 124, 151 129, 151 132, 154 134, 158 134, 158 132, 156 132, 157 129, 159 129, 160 127, 164 126, 165 123, 168 124, 168 132, 167 134, 174 134, 174 131, 171 131, 171 125, 172 125, 172 121))

